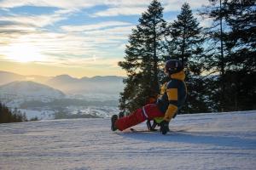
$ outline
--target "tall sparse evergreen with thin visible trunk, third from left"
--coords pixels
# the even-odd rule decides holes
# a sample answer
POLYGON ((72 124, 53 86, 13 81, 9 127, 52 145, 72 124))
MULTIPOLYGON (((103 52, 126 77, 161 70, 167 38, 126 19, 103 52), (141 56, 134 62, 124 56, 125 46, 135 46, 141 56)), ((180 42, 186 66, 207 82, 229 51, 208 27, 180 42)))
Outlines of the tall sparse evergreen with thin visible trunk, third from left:
MULTIPOLYGON (((212 26, 207 29, 207 45, 209 47, 205 67, 207 71, 214 74, 218 73, 218 77, 209 81, 212 88, 218 85, 216 90, 215 103, 218 104, 218 111, 224 111, 226 99, 225 72, 227 71, 226 56, 230 53, 226 48, 227 27, 225 22, 227 0, 209 0, 211 5, 201 12, 202 16, 212 19, 212 26)), ((213 89, 212 89, 213 90, 213 89)))

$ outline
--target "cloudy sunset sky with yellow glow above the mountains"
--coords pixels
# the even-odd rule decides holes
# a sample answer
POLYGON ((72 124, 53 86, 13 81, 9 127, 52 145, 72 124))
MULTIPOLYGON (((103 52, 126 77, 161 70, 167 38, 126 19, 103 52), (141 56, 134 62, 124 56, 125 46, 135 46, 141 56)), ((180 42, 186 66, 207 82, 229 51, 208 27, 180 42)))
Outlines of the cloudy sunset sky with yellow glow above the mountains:
MULTIPOLYGON (((125 76, 131 28, 151 0, 0 0, 0 71, 22 75, 125 76)), ((176 20, 184 2, 161 0, 164 19, 176 20)), ((197 15, 195 15, 197 16, 197 15)), ((201 20, 201 26, 207 25, 201 20)))

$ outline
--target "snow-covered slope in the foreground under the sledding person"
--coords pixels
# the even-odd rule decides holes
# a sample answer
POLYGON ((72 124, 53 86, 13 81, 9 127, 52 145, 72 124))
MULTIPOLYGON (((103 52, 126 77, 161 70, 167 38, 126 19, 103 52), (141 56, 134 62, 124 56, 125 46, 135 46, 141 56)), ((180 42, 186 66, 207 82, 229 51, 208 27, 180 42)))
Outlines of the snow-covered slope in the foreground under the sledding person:
POLYGON ((256 111, 177 116, 167 135, 111 132, 109 124, 109 119, 0 124, 0 169, 256 167, 256 111))

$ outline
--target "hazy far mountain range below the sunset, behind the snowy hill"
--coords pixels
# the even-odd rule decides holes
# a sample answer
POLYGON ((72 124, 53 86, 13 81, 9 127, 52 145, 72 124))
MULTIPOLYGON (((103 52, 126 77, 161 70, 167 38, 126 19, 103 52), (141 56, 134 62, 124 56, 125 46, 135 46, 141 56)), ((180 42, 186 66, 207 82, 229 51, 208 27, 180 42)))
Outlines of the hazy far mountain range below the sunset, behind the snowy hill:
MULTIPOLYGON (((68 75, 60 75, 56 77, 42 77, 34 75, 23 76, 12 72, 0 71, 0 86, 5 85, 4 88, 21 88, 24 86, 22 82, 26 82, 28 87, 31 87, 35 85, 32 85, 32 82, 37 82, 41 84, 42 88, 42 85, 46 85, 51 88, 61 90, 61 92, 63 92, 64 94, 73 94, 81 96, 102 95, 106 97, 109 95, 118 97, 119 93, 124 89, 123 79, 124 77, 115 76, 82 78, 70 77, 68 75), (14 83, 12 84, 10 82, 14 83)), ((40 86, 38 86, 38 88, 39 87, 40 86)), ((27 88, 26 90, 29 90, 29 88, 27 88)))

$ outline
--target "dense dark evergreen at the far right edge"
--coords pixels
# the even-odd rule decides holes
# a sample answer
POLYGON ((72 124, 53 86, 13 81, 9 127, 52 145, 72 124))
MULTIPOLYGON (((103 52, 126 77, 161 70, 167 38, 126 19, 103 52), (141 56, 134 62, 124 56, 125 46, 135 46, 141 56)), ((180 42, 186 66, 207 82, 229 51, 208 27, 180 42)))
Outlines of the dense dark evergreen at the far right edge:
POLYGON ((232 0, 224 2, 226 22, 230 31, 226 37, 230 54, 226 56, 228 72, 226 99, 229 111, 256 108, 256 3, 232 0))

